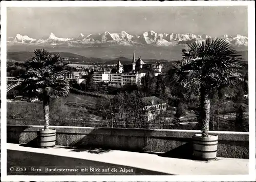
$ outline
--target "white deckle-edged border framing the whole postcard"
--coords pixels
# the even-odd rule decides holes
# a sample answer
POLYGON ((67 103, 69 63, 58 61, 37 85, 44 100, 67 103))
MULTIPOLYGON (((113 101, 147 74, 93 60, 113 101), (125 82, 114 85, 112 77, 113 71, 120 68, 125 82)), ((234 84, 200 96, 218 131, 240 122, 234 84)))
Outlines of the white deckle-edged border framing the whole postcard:
POLYGON ((254 1, 99 1, 99 2, 1 2, 1 180, 2 181, 254 181, 255 180, 255 12, 254 1), (6 10, 7 7, 79 7, 79 6, 248 6, 249 62, 249 175, 194 176, 7 176, 6 171, 6 10))

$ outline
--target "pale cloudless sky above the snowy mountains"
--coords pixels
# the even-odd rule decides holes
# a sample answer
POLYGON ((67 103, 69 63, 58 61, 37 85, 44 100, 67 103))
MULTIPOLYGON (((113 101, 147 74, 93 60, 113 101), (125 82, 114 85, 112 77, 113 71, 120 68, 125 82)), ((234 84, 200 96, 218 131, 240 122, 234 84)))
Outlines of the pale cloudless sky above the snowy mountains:
POLYGON ((7 36, 74 38, 126 31, 140 35, 194 33, 210 36, 247 35, 246 6, 204 7, 8 7, 7 36))

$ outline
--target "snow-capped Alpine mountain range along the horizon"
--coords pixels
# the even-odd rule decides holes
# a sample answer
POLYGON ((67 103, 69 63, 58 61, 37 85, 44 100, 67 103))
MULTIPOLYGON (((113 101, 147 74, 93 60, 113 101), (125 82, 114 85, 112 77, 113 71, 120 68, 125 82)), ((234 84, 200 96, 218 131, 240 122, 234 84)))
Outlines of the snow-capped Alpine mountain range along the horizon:
MULTIPOLYGON (((53 33, 47 39, 34 39, 27 35, 17 34, 15 37, 9 37, 7 42, 13 44, 35 44, 35 45, 54 45, 65 47, 77 47, 81 45, 104 44, 104 45, 156 45, 156 46, 174 46, 178 44, 191 43, 194 41, 204 41, 211 38, 209 35, 196 35, 191 33, 175 34, 175 33, 156 33, 153 30, 144 32, 141 35, 131 35, 125 31, 120 33, 110 33, 105 31, 98 34, 84 35, 82 33, 74 38, 59 38, 53 33)), ((243 35, 222 35, 219 38, 225 39, 232 45, 241 47, 248 46, 248 38, 243 35)))

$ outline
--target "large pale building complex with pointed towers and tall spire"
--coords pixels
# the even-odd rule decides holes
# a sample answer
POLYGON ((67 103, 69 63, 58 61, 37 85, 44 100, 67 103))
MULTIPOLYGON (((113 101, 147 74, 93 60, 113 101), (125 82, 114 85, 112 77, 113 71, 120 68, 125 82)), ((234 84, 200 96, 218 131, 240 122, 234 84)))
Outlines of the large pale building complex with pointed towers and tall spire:
POLYGON ((105 82, 110 86, 141 85, 141 78, 150 69, 157 76, 162 73, 162 64, 160 62, 146 64, 140 57, 136 61, 134 52, 132 64, 122 65, 118 60, 118 63, 111 71, 100 69, 98 72, 94 72, 93 83, 105 82))

